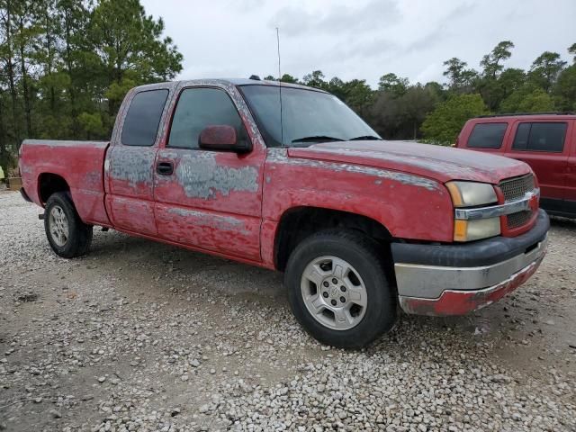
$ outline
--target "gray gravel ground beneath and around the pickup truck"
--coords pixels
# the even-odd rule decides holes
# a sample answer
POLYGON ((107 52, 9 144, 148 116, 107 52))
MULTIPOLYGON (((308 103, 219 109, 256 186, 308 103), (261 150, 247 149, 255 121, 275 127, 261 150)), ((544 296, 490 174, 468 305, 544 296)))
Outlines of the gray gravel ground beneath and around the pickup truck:
POLYGON ((0 192, 0 430, 576 431, 576 223, 473 316, 322 347, 279 274, 116 232, 51 253, 0 192))

